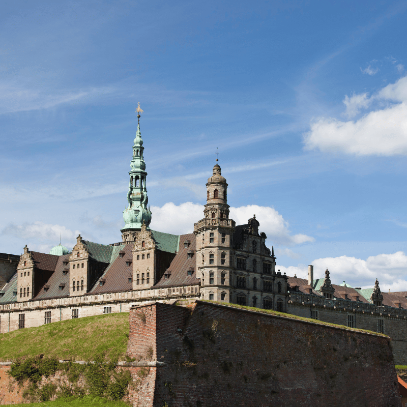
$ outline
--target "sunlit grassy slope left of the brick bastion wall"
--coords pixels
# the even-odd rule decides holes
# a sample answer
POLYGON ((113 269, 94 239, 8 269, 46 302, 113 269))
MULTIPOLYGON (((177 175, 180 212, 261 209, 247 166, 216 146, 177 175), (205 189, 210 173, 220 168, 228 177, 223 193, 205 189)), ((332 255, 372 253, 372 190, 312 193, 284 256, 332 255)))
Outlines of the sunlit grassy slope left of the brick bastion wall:
POLYGON ((0 334, 0 361, 44 354, 48 358, 124 360, 129 314, 114 313, 53 322, 0 334))

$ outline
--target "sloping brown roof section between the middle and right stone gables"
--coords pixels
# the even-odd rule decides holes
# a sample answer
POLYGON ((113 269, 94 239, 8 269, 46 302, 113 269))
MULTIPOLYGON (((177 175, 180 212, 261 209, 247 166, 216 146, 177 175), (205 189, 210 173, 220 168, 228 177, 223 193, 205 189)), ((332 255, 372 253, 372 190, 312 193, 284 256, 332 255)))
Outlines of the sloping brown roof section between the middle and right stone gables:
POLYGON ((106 268, 95 285, 90 289, 90 294, 115 293, 119 291, 129 291, 132 289, 132 282, 129 277, 133 278, 133 243, 113 246, 111 253, 111 263, 106 268), (123 257, 119 252, 124 251, 123 257), (126 266, 126 261, 130 259, 130 266, 126 266), (104 279, 103 285, 100 285, 100 279, 104 279))

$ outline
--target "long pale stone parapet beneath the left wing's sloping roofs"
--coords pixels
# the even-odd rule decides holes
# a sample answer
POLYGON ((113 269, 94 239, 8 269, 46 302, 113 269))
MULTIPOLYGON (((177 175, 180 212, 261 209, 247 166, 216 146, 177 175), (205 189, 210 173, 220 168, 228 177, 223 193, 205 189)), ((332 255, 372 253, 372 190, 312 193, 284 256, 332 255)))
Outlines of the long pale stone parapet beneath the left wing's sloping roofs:
POLYGON ((14 302, 0 305, 0 313, 27 309, 41 309, 48 307, 71 307, 78 305, 92 305, 99 303, 125 303, 132 301, 160 301, 168 298, 195 297, 199 293, 199 285, 185 285, 181 287, 146 288, 120 293, 85 294, 77 297, 50 298, 38 301, 14 302))

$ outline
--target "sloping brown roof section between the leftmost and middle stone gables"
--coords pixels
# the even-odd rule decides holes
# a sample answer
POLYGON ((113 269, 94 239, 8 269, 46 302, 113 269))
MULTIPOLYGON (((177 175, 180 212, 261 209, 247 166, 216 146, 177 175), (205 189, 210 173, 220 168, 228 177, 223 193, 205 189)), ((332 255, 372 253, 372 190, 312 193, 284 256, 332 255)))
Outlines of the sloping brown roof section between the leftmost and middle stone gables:
POLYGON ((68 262, 69 256, 69 254, 58 256, 54 273, 40 288, 38 294, 33 298, 34 301, 69 296, 69 263, 68 265, 64 265, 64 260, 68 262), (64 275, 65 269, 67 269, 66 275, 64 275), (64 284, 64 286, 62 284, 64 284), (60 285, 62 286, 62 289, 60 289, 60 285), (46 291, 44 290, 44 287, 47 287, 46 291))

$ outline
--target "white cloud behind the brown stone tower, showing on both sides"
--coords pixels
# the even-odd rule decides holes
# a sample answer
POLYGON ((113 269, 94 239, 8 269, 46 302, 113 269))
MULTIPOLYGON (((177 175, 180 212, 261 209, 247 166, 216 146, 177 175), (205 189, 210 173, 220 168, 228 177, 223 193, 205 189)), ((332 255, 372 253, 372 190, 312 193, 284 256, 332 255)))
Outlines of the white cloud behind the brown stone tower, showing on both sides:
MULTIPOLYGON (((162 207, 151 207, 151 211, 153 217, 150 227, 168 233, 190 233, 193 230, 194 222, 203 217, 202 205, 192 202, 181 203, 181 205, 167 202, 162 207)), ((260 222, 260 231, 266 233, 269 245, 292 246, 314 241, 311 236, 293 235, 289 230, 288 222, 274 208, 258 205, 230 207, 230 218, 234 219, 236 224, 246 224, 253 214, 260 222)), ((293 255, 295 254, 292 253, 293 255)))

